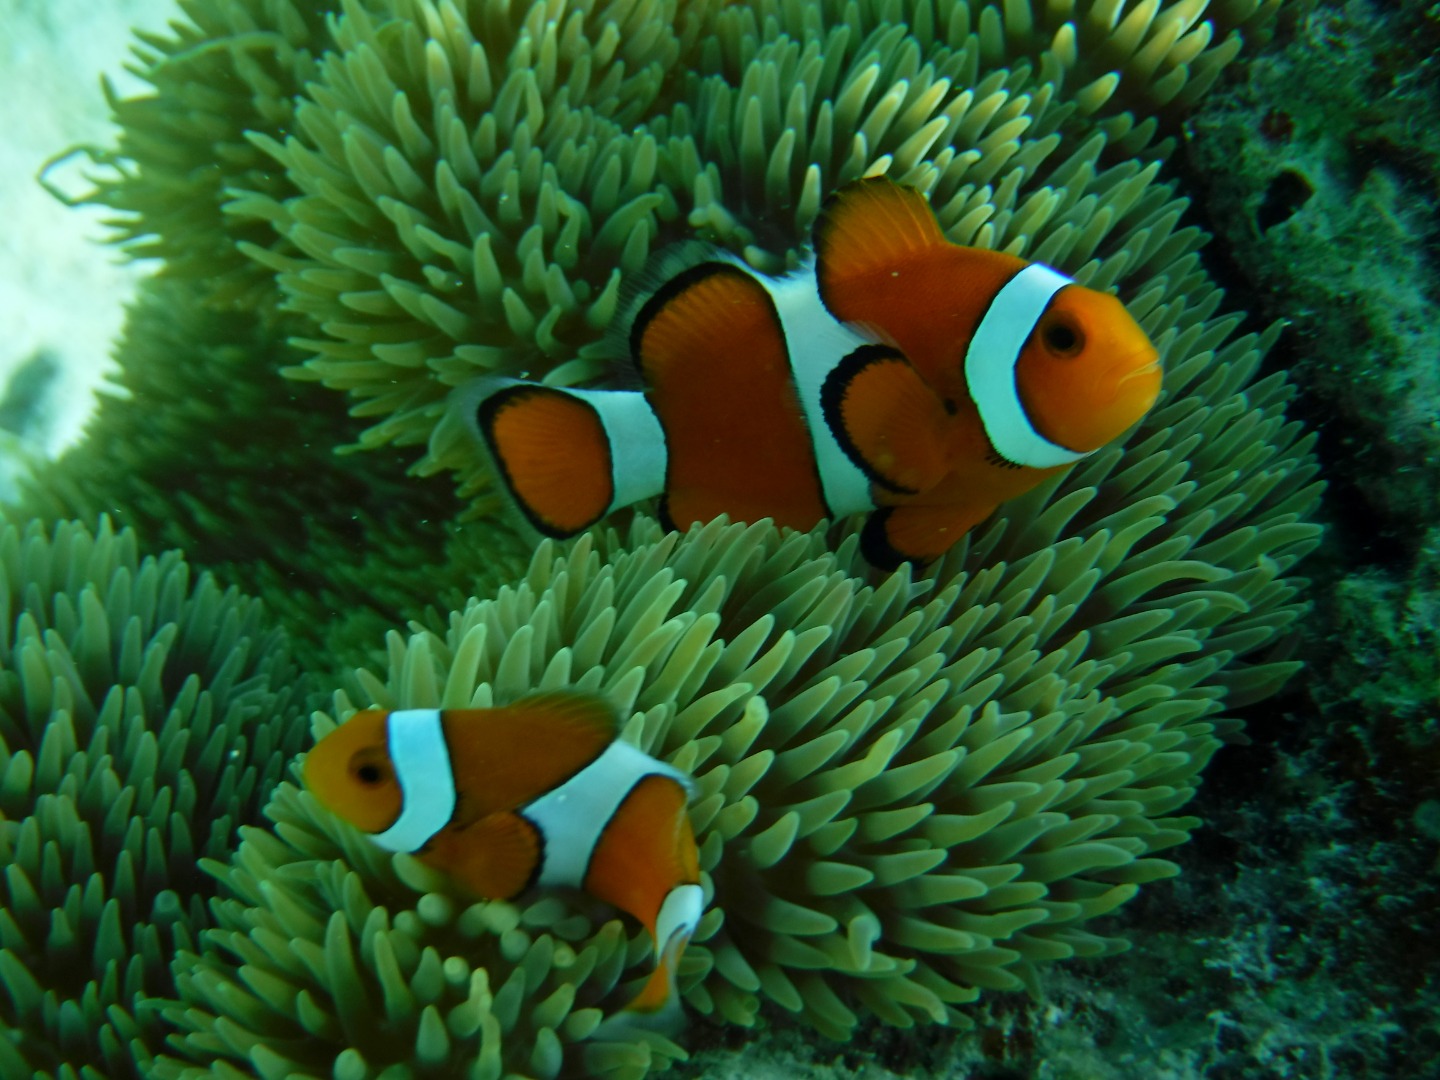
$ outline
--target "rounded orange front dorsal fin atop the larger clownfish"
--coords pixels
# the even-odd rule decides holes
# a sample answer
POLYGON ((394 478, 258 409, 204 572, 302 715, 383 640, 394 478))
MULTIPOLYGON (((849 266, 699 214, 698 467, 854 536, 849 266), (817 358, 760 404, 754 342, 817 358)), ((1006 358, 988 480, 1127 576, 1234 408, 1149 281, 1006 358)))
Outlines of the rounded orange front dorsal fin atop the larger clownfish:
POLYGON ((838 189, 815 219, 821 295, 828 276, 852 278, 949 243, 929 200, 883 176, 838 189))

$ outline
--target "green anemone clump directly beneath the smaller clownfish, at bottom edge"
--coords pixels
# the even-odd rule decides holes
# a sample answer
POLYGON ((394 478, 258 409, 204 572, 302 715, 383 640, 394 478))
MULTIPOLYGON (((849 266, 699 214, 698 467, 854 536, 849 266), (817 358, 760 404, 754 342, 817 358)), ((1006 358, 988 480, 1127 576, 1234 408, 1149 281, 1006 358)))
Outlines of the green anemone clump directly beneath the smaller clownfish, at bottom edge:
POLYGON ((164 1015, 177 1056, 151 1076, 192 1080, 228 1063, 262 1077, 642 1077, 684 1051, 615 1041, 598 1002, 638 953, 619 922, 596 929, 559 897, 474 903, 409 858, 392 863, 294 785, 212 873, 219 927, 176 962, 164 1015))

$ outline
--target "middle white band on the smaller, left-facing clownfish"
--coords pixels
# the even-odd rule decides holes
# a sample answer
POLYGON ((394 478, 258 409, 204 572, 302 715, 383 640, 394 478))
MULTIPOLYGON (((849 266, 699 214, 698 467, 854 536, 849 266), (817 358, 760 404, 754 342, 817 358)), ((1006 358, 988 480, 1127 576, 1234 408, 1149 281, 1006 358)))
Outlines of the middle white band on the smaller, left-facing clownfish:
POLYGON ((690 789, 690 779, 672 765, 616 739, 605 753, 554 791, 541 795, 520 814, 534 822, 544 838, 541 886, 585 884, 600 834, 615 811, 644 776, 670 776, 690 789))

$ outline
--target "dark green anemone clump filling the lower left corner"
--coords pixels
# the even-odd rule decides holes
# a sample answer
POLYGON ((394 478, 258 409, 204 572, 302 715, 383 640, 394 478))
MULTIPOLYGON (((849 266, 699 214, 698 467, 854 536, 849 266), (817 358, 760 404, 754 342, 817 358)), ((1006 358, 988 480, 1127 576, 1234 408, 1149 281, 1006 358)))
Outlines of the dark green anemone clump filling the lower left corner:
POLYGON ((210 924, 197 865, 305 727, 259 605, 101 521, 0 527, 0 1073, 144 1073, 210 924))

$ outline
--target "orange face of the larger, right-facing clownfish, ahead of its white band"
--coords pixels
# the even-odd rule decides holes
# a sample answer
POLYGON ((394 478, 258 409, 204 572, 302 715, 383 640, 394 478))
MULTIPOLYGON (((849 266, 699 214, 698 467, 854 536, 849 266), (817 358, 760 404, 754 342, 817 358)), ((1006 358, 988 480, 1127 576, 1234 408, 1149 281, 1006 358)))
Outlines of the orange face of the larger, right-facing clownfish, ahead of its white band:
POLYGON ((1159 353, 1125 304, 1083 285, 1056 292, 1015 364, 1035 431, 1081 454, 1149 412, 1161 377, 1159 353))

